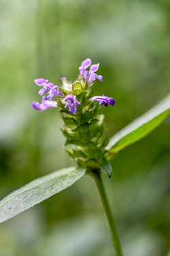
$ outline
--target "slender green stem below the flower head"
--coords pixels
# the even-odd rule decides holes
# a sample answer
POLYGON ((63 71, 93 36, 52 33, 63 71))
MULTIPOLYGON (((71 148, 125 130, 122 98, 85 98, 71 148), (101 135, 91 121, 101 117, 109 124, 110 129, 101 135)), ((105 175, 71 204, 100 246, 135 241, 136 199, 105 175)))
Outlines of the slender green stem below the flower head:
POLYGON ((95 170, 92 173, 93 173, 92 176, 94 177, 95 183, 97 185, 97 189, 99 191, 99 195, 101 197, 103 208, 105 210, 105 215, 107 216, 107 221, 109 223, 109 229, 112 235, 112 242, 114 244, 114 250, 115 250, 116 256, 122 256, 122 249, 120 246, 120 240, 118 238, 118 232, 116 231, 116 225, 114 222, 114 217, 112 215, 112 210, 110 208, 109 201, 105 193, 105 187, 103 184, 101 173, 99 170, 95 170))

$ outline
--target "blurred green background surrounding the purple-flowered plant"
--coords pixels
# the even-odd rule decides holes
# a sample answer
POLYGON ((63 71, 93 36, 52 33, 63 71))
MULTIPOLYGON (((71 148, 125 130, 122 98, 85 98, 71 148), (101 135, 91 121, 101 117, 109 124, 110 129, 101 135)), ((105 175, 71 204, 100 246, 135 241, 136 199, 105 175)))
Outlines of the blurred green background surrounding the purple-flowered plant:
MULTIPOLYGON (((0 197, 74 165, 63 150, 58 110, 38 112, 33 79, 72 81, 100 63, 95 94, 108 136, 169 93, 169 0, 0 0, 0 197)), ((170 119, 112 159, 103 175, 125 256, 168 255, 170 119)), ((111 256, 107 223, 90 177, 1 224, 1 256, 111 256)))

